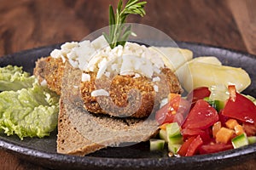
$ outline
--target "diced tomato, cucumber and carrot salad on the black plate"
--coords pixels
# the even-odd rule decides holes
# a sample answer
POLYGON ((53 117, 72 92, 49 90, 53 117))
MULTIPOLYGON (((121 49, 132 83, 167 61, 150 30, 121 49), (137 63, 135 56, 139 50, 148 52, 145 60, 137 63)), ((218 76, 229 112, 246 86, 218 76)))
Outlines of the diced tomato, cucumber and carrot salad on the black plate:
POLYGON ((256 143, 255 99, 239 94, 234 85, 226 89, 226 99, 214 99, 215 92, 207 87, 195 88, 186 98, 169 94, 155 119, 160 141, 166 141, 173 155, 210 154, 256 143))

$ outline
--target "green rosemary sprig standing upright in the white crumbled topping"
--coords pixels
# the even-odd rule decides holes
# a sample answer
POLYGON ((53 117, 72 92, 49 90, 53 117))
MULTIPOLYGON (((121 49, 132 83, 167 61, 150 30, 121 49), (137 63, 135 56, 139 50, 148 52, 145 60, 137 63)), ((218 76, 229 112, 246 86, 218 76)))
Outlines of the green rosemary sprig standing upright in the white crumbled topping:
POLYGON ((146 14, 144 5, 147 2, 139 2, 139 0, 129 0, 123 8, 122 0, 119 0, 116 14, 113 12, 112 5, 109 5, 109 34, 103 32, 103 36, 107 40, 110 48, 118 45, 125 46, 128 37, 133 34, 131 25, 125 26, 126 17, 129 14, 139 14, 142 17, 146 14))

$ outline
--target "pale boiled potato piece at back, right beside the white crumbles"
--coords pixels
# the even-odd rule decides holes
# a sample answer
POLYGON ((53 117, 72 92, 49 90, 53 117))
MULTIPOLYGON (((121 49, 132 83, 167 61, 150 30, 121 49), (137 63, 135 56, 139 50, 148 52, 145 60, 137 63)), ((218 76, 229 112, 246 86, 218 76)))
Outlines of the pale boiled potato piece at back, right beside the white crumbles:
POLYGON ((160 53, 166 66, 172 71, 176 71, 178 67, 193 58, 193 52, 189 49, 172 47, 149 47, 149 49, 160 53))

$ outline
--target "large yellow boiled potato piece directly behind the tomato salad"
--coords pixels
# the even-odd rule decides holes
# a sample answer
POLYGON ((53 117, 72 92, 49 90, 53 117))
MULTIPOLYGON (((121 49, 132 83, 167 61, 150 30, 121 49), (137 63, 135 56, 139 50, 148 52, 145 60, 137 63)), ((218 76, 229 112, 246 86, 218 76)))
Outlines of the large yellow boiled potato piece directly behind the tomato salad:
MULTIPOLYGON (((203 60, 206 61, 206 59, 203 60)), ((237 91, 241 92, 251 83, 247 72, 241 68, 219 65, 218 62, 209 64, 199 61, 200 59, 192 59, 176 71, 177 77, 187 92, 201 86, 211 87, 218 84, 225 86, 235 84, 237 91)))

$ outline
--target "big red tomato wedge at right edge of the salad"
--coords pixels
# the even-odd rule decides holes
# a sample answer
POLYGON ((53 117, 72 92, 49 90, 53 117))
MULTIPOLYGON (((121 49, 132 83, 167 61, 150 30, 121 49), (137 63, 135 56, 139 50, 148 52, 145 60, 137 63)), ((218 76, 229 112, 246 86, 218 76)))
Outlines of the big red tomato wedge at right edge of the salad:
POLYGON ((223 115, 238 119, 241 122, 256 123, 256 105, 243 95, 237 92, 235 95, 233 90, 231 92, 230 99, 224 106, 223 115))

